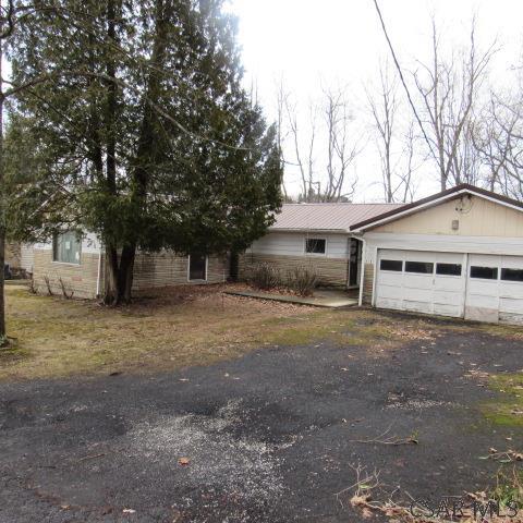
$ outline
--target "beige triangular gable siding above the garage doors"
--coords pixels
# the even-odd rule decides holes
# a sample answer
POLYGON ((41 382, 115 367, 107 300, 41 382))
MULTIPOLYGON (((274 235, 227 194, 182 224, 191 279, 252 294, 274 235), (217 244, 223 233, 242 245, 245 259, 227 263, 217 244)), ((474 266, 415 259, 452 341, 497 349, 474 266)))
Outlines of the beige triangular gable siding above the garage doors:
POLYGON ((471 196, 463 203, 463 211, 457 210, 461 199, 452 199, 429 209, 400 218, 374 228, 374 233, 448 234, 465 236, 523 236, 523 211, 488 199, 471 196), (452 221, 459 220, 459 229, 452 221))

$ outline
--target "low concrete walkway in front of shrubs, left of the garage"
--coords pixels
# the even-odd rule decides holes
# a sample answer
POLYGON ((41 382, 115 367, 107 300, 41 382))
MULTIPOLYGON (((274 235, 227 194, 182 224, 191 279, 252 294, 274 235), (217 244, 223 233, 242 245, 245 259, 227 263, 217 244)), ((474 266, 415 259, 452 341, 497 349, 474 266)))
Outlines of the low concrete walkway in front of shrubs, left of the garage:
POLYGON ((263 291, 227 291, 226 294, 327 308, 353 307, 357 305, 357 291, 355 293, 354 291, 339 291, 333 289, 317 289, 312 296, 271 294, 263 291))

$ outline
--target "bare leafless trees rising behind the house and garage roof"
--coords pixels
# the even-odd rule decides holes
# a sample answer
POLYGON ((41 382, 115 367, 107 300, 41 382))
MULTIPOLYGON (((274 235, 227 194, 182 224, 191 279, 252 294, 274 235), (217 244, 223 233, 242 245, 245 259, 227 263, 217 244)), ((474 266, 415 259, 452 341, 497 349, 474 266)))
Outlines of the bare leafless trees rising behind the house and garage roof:
MULTIPOLYGON (((388 38, 385 23, 384 32, 388 38)), ((471 183, 523 199, 520 69, 510 72, 510 89, 495 88, 489 74, 499 46, 479 48, 475 20, 467 36, 466 45, 449 46, 433 19, 430 58, 412 69, 399 62, 390 44, 392 60, 366 86, 363 109, 351 102, 348 88, 324 87, 304 110, 281 82, 279 143, 287 172, 297 173, 300 181, 297 195, 283 187, 287 199, 351 200, 361 153, 379 158, 379 184, 388 203, 414 199, 427 172, 437 173, 441 190, 471 183)))

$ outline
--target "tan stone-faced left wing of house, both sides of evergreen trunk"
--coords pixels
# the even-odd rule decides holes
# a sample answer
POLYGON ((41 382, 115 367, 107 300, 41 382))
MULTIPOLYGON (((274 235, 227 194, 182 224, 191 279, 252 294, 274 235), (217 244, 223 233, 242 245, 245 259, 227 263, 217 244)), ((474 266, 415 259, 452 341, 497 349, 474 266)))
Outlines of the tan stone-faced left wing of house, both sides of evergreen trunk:
MULTIPOLYGON (((104 292, 104 246, 95 234, 78 239, 64 232, 52 242, 33 245, 35 289, 62 293, 62 285, 74 297, 94 300, 104 292)), ((181 256, 171 251, 138 253, 134 263, 133 291, 180 284, 219 283, 228 277, 227 257, 193 254, 181 256)))

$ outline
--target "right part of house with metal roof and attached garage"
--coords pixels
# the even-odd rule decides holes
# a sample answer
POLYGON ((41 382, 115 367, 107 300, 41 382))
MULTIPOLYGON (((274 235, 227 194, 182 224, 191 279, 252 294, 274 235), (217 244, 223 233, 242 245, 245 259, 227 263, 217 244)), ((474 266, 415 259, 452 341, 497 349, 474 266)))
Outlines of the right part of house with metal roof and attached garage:
POLYGON ((523 325, 523 203, 462 184, 408 205, 284 205, 242 259, 314 268, 360 305, 523 325))

